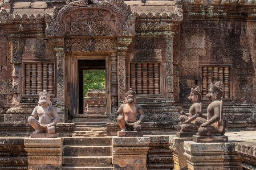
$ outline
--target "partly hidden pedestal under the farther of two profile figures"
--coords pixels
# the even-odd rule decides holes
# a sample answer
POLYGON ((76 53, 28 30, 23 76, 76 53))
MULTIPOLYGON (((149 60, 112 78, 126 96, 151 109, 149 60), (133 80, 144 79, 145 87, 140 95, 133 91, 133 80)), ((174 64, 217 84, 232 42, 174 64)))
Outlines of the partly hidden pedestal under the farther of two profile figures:
POLYGON ((177 136, 169 137, 170 150, 173 151, 174 170, 186 170, 188 164, 184 156, 184 141, 192 141, 193 138, 178 138, 177 136))

